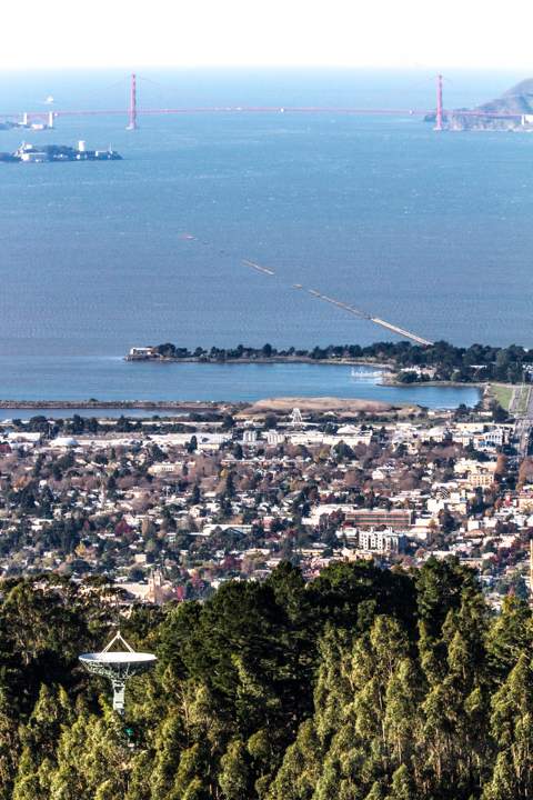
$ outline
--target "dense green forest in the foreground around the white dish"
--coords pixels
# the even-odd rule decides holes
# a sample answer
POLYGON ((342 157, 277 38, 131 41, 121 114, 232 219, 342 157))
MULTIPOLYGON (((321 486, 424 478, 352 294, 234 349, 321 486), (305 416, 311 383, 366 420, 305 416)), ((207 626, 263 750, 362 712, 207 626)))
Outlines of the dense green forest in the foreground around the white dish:
POLYGON ((533 623, 472 571, 282 563, 122 620, 158 656, 127 718, 78 663, 117 608, 103 579, 4 581, 2 800, 531 800, 533 623))

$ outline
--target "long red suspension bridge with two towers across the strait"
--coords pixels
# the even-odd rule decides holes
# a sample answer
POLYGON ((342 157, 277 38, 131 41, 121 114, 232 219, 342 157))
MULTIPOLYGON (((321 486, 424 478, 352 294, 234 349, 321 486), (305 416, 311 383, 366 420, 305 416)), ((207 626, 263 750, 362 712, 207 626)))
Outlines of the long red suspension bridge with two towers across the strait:
POLYGON ((144 108, 139 106, 138 77, 130 76, 129 99, 121 109, 49 109, 40 111, 24 111, 23 113, 0 113, 4 120, 17 120, 20 124, 30 124, 31 120, 46 120, 49 128, 53 128, 54 120, 68 117, 124 117, 128 120, 127 129, 134 131, 139 127, 139 117, 153 117, 160 114, 213 114, 213 113, 264 113, 264 114, 355 114, 362 117, 433 117, 434 130, 444 130, 444 120, 450 113, 460 113, 462 117, 486 117, 499 119, 520 119, 520 113, 494 112, 482 110, 461 109, 446 110, 443 102, 443 76, 436 76, 436 102, 433 108, 352 108, 343 106, 213 106, 213 107, 174 107, 174 108, 144 108))

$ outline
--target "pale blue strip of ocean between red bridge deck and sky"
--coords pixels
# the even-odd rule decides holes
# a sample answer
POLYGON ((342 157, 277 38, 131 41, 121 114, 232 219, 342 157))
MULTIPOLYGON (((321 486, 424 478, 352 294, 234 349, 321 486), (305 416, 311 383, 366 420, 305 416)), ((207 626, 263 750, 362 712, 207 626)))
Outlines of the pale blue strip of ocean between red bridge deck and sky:
MULTIPOLYGON (((127 108, 132 69, 17 70, 0 80, 0 113, 46 108, 127 108), (54 104, 46 104, 53 96, 54 104)), ((341 67, 135 68, 139 107, 339 106, 422 108, 435 106, 436 73, 422 69, 341 67)), ((447 70, 446 108, 475 106, 527 76, 520 70, 447 70)))

